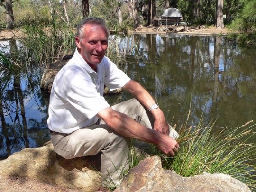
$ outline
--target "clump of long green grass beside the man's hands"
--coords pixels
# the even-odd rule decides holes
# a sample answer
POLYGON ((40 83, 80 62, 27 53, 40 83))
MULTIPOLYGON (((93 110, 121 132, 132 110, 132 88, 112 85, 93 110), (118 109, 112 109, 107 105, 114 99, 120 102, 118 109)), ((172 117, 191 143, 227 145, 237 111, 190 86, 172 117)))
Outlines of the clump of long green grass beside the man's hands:
POLYGON ((238 128, 217 128, 215 122, 206 126, 202 122, 180 128, 180 148, 174 157, 161 154, 155 146, 151 155, 160 155, 163 167, 181 176, 223 173, 256 190, 256 145, 248 142, 255 136, 256 124, 250 121, 238 128))

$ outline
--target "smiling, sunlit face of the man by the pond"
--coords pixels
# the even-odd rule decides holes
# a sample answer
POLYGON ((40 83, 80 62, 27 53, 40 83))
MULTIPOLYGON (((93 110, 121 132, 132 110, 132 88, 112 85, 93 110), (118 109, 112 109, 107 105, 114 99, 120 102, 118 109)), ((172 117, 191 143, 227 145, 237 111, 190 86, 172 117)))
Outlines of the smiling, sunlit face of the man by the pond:
POLYGON ((95 69, 108 48, 107 30, 102 25, 88 23, 83 29, 83 37, 75 37, 75 42, 82 58, 95 69))

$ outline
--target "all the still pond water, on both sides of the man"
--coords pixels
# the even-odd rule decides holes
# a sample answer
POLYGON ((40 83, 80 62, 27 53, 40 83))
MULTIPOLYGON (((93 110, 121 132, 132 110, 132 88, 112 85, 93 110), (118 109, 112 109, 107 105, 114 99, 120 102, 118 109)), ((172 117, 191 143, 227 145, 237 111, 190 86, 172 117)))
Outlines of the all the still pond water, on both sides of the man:
MULTIPOLYGON (((126 56, 119 68, 146 87, 173 126, 185 122, 189 109, 192 126, 202 115, 205 124, 217 119, 219 127, 256 122, 255 49, 241 49, 226 37, 134 34, 115 38, 119 53, 126 56)), ((8 45, 0 42, 0 51, 8 51, 8 45)), ((49 95, 39 87, 42 71, 0 72, 0 159, 50 140, 49 95)), ((110 104, 129 98, 125 91, 106 96, 110 104)))

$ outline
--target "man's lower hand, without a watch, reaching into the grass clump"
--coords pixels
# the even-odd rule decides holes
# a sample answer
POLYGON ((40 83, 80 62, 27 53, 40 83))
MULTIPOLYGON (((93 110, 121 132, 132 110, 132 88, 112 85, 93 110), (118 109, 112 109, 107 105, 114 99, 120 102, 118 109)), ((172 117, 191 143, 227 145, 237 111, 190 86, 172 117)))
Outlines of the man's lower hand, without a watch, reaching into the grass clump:
POLYGON ((174 156, 179 148, 179 144, 172 137, 164 135, 162 141, 158 145, 158 148, 166 155, 174 156))

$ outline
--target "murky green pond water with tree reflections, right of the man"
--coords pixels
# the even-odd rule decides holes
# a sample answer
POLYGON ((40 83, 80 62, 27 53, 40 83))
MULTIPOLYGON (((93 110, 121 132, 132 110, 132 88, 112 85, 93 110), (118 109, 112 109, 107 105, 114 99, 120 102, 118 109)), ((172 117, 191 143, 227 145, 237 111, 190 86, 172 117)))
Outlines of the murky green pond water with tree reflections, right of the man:
POLYGON ((137 47, 129 52, 127 73, 157 98, 168 119, 184 122, 192 101, 195 124, 202 113, 206 122, 218 118, 224 127, 256 120, 255 50, 241 50, 225 37, 133 38, 137 47))

